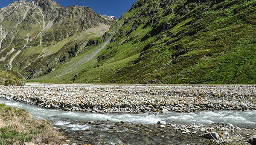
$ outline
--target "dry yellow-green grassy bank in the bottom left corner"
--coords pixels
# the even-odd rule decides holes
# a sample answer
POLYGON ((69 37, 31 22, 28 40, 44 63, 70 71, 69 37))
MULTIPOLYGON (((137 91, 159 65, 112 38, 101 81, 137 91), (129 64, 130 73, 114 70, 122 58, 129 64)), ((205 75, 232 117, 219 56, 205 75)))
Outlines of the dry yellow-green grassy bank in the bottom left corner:
POLYGON ((57 143, 63 136, 45 119, 34 119, 32 114, 19 108, 0 104, 0 145, 57 143))

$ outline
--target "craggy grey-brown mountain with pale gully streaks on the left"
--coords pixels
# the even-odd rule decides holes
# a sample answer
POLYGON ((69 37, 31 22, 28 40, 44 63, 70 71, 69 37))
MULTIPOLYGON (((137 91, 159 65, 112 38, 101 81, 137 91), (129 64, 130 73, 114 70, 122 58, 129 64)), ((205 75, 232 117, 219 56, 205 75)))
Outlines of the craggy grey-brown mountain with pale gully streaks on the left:
POLYGON ((115 21, 89 7, 64 8, 54 0, 13 2, 0 9, 0 66, 20 71, 26 79, 47 74, 115 21))

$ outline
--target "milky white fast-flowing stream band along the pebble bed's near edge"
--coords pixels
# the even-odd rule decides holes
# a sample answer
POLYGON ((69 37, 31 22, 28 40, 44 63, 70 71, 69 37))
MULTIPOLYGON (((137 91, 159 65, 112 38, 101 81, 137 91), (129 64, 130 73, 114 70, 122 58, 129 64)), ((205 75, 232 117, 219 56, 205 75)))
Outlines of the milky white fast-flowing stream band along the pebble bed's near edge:
POLYGON ((85 112, 70 112, 63 110, 47 110, 35 105, 27 105, 12 100, 0 99, 0 102, 6 103, 6 105, 18 108, 24 108, 29 110, 35 118, 47 118, 52 117, 55 120, 55 125, 71 125, 73 130, 87 129, 86 125, 73 125, 68 121, 61 121, 61 119, 80 120, 80 121, 97 121, 97 120, 111 120, 112 122, 118 122, 123 120, 124 122, 136 122, 144 124, 156 124, 160 120, 165 120, 168 123, 178 124, 191 124, 201 123, 208 125, 211 123, 231 123, 233 125, 252 125, 256 126, 256 111, 199 111, 198 113, 177 113, 169 112, 163 115, 148 115, 148 114, 93 114, 85 112), (73 125, 73 126, 72 126, 73 125))

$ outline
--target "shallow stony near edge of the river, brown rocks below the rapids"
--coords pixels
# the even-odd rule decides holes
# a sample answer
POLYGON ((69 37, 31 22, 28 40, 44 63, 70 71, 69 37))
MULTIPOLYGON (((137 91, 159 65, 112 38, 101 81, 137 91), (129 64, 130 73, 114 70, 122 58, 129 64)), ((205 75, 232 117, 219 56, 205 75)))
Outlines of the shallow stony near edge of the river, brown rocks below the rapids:
MULTIPOLYGON (((52 123, 55 123, 53 118, 52 123)), ((250 145, 251 136, 256 134, 253 128, 239 128, 232 124, 204 126, 163 122, 161 125, 145 125, 108 120, 62 120, 55 126, 68 136, 69 145, 250 145)))

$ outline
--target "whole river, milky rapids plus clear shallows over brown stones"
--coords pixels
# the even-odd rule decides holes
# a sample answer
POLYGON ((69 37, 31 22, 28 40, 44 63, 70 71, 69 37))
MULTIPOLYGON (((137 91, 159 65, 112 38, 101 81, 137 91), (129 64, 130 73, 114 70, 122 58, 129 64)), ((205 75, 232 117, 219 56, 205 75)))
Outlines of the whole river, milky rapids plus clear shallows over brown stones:
POLYGON ((179 130, 170 131, 168 126, 159 128, 156 124, 160 120, 164 120, 170 125, 194 123, 217 126, 230 123, 240 128, 256 127, 256 111, 253 110, 198 111, 195 113, 171 111, 166 114, 97 114, 45 109, 5 99, 0 99, 0 103, 29 110, 35 118, 47 118, 58 128, 59 132, 67 135, 67 139, 78 145, 79 143, 92 145, 158 145, 161 143, 204 145, 209 142, 209 140, 198 138, 196 135, 183 135, 179 130), (145 126, 143 127, 142 124, 145 126))

